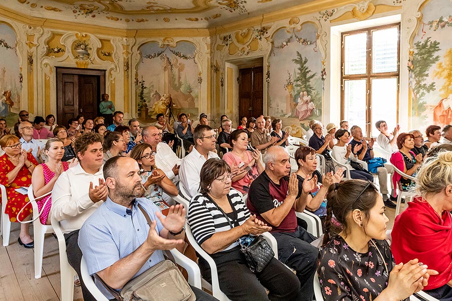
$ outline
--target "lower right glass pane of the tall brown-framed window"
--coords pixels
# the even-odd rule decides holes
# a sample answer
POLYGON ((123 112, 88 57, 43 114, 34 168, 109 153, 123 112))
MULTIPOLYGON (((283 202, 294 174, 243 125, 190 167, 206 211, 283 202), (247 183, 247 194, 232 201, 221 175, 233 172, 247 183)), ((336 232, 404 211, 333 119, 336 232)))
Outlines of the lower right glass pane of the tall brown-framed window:
POLYGON ((372 104, 372 136, 380 134, 375 127, 378 120, 385 120, 392 132, 397 124, 397 78, 372 80, 372 104))

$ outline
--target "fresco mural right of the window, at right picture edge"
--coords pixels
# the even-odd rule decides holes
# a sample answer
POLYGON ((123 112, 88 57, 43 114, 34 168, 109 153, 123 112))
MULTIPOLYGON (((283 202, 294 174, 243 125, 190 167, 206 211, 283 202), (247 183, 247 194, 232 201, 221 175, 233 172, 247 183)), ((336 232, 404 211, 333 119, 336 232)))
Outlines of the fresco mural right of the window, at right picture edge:
POLYGON ((412 127, 452 123, 452 2, 429 0, 421 9, 408 70, 412 127))

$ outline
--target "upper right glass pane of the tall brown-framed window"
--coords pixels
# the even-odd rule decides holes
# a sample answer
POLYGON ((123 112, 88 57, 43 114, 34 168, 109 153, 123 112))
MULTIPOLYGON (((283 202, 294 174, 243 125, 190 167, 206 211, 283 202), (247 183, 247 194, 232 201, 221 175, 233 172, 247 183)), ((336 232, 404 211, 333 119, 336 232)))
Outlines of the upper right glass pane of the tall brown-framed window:
POLYGON ((377 30, 372 33, 372 72, 397 71, 397 27, 377 30))

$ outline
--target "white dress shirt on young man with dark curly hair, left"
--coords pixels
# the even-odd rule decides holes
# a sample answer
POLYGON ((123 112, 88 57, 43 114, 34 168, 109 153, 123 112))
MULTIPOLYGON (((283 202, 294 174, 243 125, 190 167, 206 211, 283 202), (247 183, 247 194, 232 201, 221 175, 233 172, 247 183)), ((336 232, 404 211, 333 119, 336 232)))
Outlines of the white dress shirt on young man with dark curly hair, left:
POLYGON ((103 166, 94 175, 88 174, 80 164, 60 175, 52 190, 50 214, 60 222, 63 233, 81 228, 85 220, 103 203, 89 198, 89 182, 93 188, 103 179, 103 166))

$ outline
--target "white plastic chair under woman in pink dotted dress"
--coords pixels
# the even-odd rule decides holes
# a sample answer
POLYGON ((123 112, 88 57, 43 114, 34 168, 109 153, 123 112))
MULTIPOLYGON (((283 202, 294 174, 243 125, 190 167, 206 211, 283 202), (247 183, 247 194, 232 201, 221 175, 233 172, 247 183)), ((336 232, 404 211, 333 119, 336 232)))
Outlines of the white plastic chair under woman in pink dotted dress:
POLYGON ((44 237, 47 233, 53 233, 52 225, 43 225, 39 220, 38 205, 35 201, 33 194, 33 187, 30 185, 28 188, 28 198, 31 201, 33 207, 33 239, 35 241, 35 278, 41 278, 42 272, 42 256, 44 253, 44 237))

